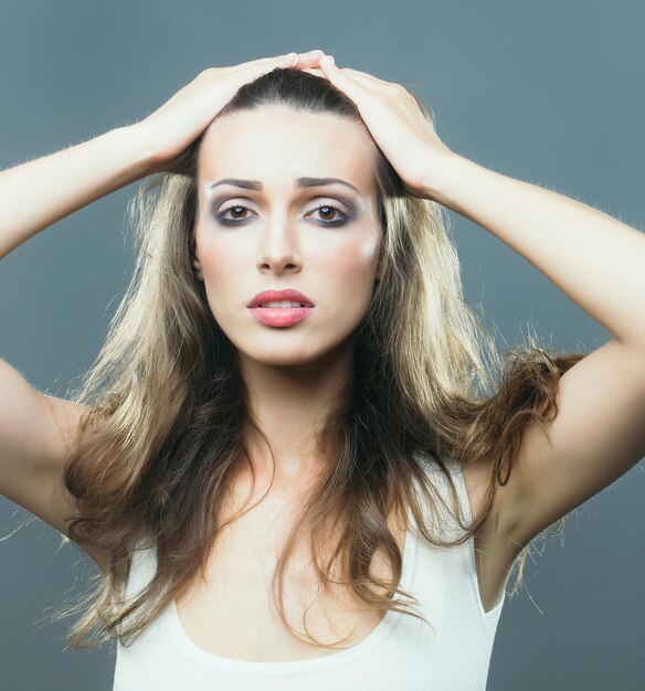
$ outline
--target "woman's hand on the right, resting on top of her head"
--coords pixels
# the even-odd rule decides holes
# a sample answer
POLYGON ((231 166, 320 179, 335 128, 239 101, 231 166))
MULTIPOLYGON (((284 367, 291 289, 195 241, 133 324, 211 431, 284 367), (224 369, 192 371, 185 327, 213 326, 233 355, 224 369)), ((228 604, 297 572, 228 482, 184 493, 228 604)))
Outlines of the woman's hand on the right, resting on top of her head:
POLYGON ((370 134, 399 173, 406 191, 432 199, 433 179, 455 153, 436 136, 415 97, 403 86, 351 70, 326 64, 306 72, 324 76, 357 105, 370 134))

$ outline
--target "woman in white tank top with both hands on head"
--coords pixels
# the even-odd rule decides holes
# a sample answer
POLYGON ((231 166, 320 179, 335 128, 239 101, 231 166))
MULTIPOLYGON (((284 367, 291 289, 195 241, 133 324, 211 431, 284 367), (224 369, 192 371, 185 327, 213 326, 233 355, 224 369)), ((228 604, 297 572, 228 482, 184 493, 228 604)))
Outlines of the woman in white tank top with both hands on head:
POLYGON ((643 236, 313 51, 2 172, 1 256, 152 173, 83 389, 1 363, 0 490, 101 568, 73 645, 119 636, 117 690, 485 688, 512 565, 645 453, 643 236), (612 340, 503 362, 442 206, 612 340))

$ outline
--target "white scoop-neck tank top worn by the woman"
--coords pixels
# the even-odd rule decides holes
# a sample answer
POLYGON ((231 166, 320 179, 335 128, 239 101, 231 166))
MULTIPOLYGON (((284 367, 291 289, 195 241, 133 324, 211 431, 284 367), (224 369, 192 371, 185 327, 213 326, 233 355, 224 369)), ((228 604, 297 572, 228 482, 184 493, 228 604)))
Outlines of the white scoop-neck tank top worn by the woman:
MULTIPOLYGON (((469 521, 461 468, 446 465, 469 521)), ((452 506, 440 471, 427 468, 452 506)), ((390 610, 367 638, 338 652, 287 662, 240 660, 197 646, 173 602, 131 646, 117 642, 114 691, 485 691, 505 598, 484 612, 473 538, 448 550, 427 546, 414 532, 411 512, 409 520, 401 586, 419 599, 434 634, 424 621, 390 610)), ((154 548, 135 552, 128 598, 155 568, 154 548)))

